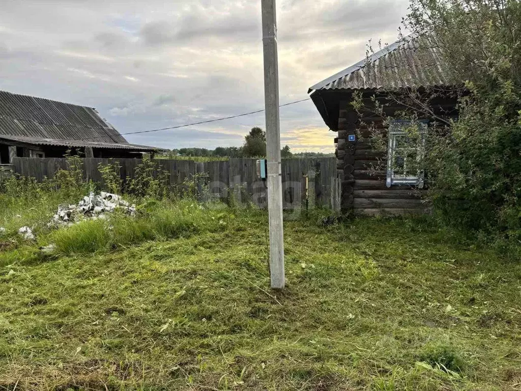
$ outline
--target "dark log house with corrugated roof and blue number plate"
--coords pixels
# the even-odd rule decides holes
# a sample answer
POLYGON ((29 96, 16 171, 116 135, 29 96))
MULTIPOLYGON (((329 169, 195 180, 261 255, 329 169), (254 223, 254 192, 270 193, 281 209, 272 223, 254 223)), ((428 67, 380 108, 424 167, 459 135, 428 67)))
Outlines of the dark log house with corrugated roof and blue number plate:
MULTIPOLYGON (((384 125, 388 121, 376 114, 374 98, 386 102, 383 115, 392 117, 404 106, 400 100, 389 99, 391 91, 393 96, 412 90, 425 94, 442 91, 429 95, 430 109, 436 116, 454 117, 457 97, 450 91, 457 84, 461 83, 454 83, 435 41, 425 35, 409 35, 309 88, 322 119, 337 132, 334 143, 344 213, 401 215, 430 211, 422 199, 428 188, 428 172, 407 170, 406 157, 396 146, 407 137, 401 131, 407 121, 384 125), (361 96, 365 109, 356 111, 351 104, 355 93, 361 96), (387 137, 386 153, 371 141, 374 129, 387 137)), ((434 124, 432 115, 421 110, 417 118, 422 128, 434 124)))

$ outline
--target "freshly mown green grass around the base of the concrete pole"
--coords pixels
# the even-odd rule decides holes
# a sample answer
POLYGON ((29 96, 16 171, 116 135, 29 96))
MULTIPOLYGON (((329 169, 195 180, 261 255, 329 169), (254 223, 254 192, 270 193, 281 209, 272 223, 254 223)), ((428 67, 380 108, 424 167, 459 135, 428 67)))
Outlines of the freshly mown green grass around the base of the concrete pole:
POLYGON ((233 213, 116 250, 4 253, 0 389, 521 389, 518 260, 413 220, 289 221, 275 292, 267 216, 233 213))

